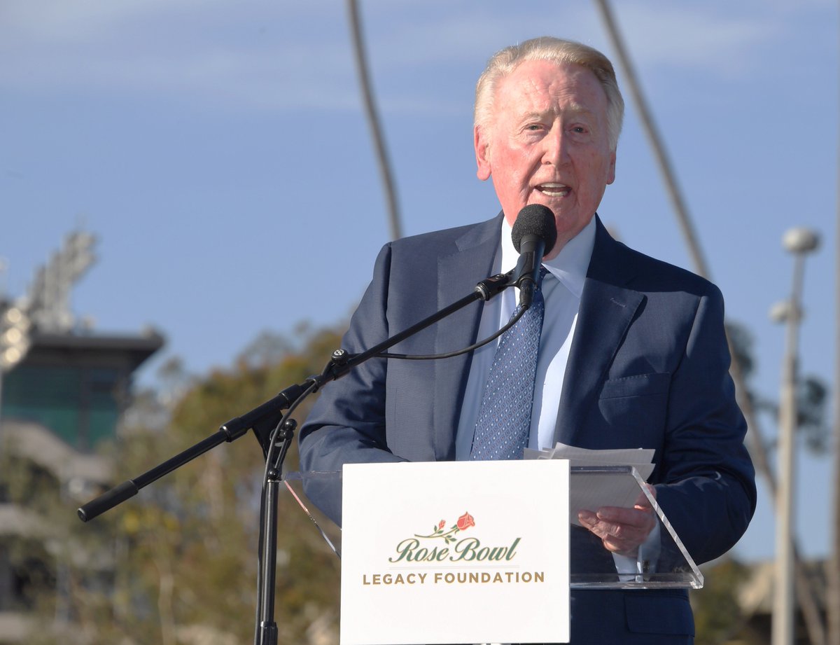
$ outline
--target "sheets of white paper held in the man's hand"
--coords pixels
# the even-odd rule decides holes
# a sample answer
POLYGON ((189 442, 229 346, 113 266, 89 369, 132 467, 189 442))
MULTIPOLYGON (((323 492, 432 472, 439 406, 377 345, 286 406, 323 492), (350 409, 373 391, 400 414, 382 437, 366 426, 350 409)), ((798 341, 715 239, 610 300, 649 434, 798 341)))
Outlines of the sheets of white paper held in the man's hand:
POLYGON ((633 508, 643 491, 629 471, 617 473, 580 472, 575 466, 632 466, 647 480, 654 470, 654 450, 627 448, 618 450, 590 450, 557 443, 554 448, 525 450, 525 459, 569 459, 572 467, 569 491, 570 522, 580 526, 578 512, 597 511, 601 506, 633 508))

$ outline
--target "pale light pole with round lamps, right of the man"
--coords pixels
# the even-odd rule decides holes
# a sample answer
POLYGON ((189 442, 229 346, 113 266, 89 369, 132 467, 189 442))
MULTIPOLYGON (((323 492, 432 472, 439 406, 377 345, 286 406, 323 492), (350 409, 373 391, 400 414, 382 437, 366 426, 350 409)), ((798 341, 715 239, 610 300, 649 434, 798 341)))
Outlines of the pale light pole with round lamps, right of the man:
POLYGON ((794 268, 790 300, 776 304, 770 311, 770 317, 775 322, 786 324, 785 358, 782 362, 779 404, 779 486, 776 498, 776 566, 772 645, 792 645, 794 642, 793 489, 798 341, 802 320, 802 273, 806 254, 819 246, 820 239, 817 233, 807 228, 791 228, 783 236, 782 244, 794 255, 794 268))

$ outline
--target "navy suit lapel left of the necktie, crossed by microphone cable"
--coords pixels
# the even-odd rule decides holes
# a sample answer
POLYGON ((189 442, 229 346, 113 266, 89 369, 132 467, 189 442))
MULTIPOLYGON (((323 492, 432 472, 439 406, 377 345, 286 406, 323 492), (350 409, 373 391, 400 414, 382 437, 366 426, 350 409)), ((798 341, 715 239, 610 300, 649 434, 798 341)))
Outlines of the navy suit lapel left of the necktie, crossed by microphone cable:
MULTIPOLYGON (((499 245, 501 214, 455 240, 458 249, 438 259, 438 310, 468 296, 491 275, 499 245)), ((435 351, 451 352, 475 343, 482 311, 475 302, 438 323, 435 351)), ((436 459, 455 458, 455 433, 472 353, 434 362, 434 451, 436 459)))

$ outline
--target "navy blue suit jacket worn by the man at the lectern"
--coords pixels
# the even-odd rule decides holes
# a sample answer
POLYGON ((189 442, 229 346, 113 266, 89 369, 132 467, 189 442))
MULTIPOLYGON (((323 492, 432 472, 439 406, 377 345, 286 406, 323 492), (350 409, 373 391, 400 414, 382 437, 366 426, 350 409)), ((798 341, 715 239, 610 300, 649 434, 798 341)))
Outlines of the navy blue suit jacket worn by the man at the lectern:
MULTIPOLYGON (((386 244, 344 348, 368 349, 469 294, 491 275, 500 234, 501 215, 386 244)), ((438 354, 474 343, 480 308, 391 351, 438 354)), ((698 564, 731 548, 755 508, 729 360, 717 287, 628 249, 598 221, 555 438, 581 448, 654 448, 657 500, 698 564)), ((323 389, 300 433, 302 469, 454 459, 469 369, 470 355, 367 361, 323 389)), ((338 491, 309 492, 341 522, 338 491)), ((681 590, 575 590, 571 609, 572 642, 692 642, 681 590)))

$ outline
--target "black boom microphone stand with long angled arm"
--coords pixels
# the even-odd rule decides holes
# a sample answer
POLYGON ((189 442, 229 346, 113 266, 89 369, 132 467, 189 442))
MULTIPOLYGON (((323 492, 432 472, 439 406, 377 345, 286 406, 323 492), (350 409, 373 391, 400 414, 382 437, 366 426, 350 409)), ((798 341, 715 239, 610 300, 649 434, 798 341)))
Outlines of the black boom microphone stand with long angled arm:
POLYGON ((192 459, 215 448, 219 443, 232 442, 242 437, 249 429, 253 429, 263 449, 266 459, 266 476, 262 497, 260 500, 260 570, 258 572, 258 599, 257 618, 254 642, 255 645, 276 645, 277 625, 274 621, 275 586, 276 586, 276 548, 277 548, 277 500, 278 488, 282 481, 283 461, 291 446, 294 430, 297 423, 293 419, 286 419, 284 410, 290 413, 303 400, 303 398, 331 380, 337 380, 346 375, 356 365, 364 363, 365 360, 381 354, 409 338, 415 333, 433 325, 435 322, 450 316, 459 309, 462 309, 476 300, 487 301, 507 289, 508 286, 517 285, 527 276, 514 275, 514 271, 506 274, 491 275, 491 277, 480 281, 469 296, 444 307, 432 316, 424 318, 405 331, 396 333, 382 343, 362 352, 361 354, 349 354, 345 349, 336 349, 332 358, 324 368, 321 375, 310 376, 302 384, 291 385, 281 391, 274 398, 265 401, 250 412, 241 417, 234 417, 223 423, 218 432, 210 437, 196 443, 191 448, 176 454, 175 457, 167 459, 162 464, 139 475, 134 480, 126 480, 122 484, 113 487, 87 504, 81 506, 77 515, 82 522, 89 522, 94 517, 101 515, 114 506, 138 494, 139 490, 152 482, 159 480, 164 475, 180 468, 192 459), (266 432, 274 428, 274 432, 266 432), (281 440, 278 451, 272 450, 276 439, 281 440), (272 455, 276 452, 276 459, 272 455), (271 463, 269 463, 271 459, 271 463))

